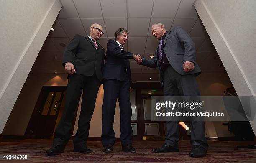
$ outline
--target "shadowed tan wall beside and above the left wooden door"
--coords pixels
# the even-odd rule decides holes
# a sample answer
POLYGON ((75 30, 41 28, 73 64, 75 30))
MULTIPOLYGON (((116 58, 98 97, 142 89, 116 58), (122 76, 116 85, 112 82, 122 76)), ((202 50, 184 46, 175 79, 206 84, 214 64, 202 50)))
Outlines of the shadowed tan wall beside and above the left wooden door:
POLYGON ((3 135, 24 135, 43 86, 66 86, 67 75, 29 74, 6 122, 3 135))

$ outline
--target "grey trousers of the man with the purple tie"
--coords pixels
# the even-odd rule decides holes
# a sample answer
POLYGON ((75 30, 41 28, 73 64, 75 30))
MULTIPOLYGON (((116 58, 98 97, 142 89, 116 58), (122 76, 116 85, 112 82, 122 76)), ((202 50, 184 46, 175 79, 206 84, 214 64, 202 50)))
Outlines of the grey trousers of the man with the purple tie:
MULTIPOLYGON (((164 96, 200 96, 195 74, 182 76, 172 66, 167 67, 164 71, 164 96)), ((166 122, 166 127, 165 143, 178 147, 179 122, 166 122)), ((208 149, 205 138, 205 122, 191 119, 190 143, 208 149)))

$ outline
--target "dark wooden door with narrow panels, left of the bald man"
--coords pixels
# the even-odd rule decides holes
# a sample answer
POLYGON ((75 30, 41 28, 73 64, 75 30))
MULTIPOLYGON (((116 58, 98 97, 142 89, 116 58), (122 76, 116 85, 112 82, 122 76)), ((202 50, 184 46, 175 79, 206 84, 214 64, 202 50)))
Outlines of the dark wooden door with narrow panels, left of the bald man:
MULTIPOLYGON (((43 86, 26 130, 26 138, 54 137, 54 131, 64 109, 66 89, 66 86, 43 86)), ((74 120, 75 117, 76 113, 74 120)))

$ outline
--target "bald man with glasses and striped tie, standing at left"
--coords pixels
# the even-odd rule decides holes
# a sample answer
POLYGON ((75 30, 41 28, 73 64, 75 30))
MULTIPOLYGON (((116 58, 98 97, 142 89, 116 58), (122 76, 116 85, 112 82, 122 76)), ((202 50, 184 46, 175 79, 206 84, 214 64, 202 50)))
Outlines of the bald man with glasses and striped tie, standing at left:
POLYGON ((86 142, 97 93, 102 80, 105 49, 97 43, 97 40, 103 34, 101 25, 92 24, 90 36, 74 36, 74 39, 64 51, 63 66, 69 74, 65 108, 55 131, 53 147, 46 151, 46 155, 59 155, 64 152, 65 145, 72 133, 74 111, 77 108, 82 90, 78 130, 73 140, 74 151, 91 153, 91 150, 87 148, 86 142))

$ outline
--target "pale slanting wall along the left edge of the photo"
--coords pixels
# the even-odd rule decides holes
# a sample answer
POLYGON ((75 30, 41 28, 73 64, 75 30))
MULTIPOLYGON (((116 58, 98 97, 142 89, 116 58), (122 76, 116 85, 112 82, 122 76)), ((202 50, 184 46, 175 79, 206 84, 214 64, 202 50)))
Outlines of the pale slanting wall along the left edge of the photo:
POLYGON ((0 133, 60 9, 59 0, 0 1, 0 133))

